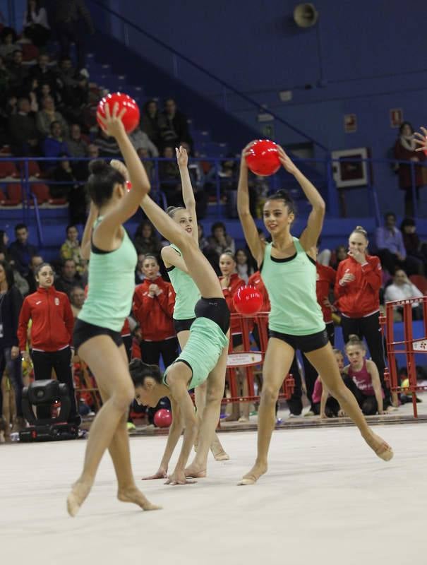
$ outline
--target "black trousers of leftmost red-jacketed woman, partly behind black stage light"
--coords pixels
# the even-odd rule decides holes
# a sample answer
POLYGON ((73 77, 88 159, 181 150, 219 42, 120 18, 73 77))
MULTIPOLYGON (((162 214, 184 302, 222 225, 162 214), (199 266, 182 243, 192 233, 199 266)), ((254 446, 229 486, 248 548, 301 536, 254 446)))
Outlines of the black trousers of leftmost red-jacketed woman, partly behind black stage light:
MULTIPOLYGON (((76 420, 78 416, 76 395, 74 393, 73 374, 71 372, 71 349, 66 347, 59 351, 32 351, 32 363, 34 364, 34 378, 36 381, 52 379, 52 369, 55 369, 56 379, 68 386, 71 410, 68 420, 76 420)), ((50 407, 37 408, 37 417, 50 418, 50 407)))

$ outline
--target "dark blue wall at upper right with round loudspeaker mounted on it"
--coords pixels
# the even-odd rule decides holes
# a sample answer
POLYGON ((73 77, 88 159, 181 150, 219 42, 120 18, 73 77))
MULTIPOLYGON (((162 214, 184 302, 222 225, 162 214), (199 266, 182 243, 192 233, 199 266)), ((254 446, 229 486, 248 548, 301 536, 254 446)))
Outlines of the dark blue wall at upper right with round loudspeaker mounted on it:
MULTIPOLYGON (((318 25, 308 30, 296 28, 291 18, 296 0, 150 2, 140 12, 130 0, 105 3, 331 150, 368 146, 372 157, 381 159, 397 134, 390 127, 390 109, 402 108, 404 119, 415 126, 427 121, 419 1, 317 0, 318 25), (314 88, 305 90, 308 84, 314 88), (291 102, 280 102, 279 90, 292 90, 291 102), (347 113, 356 114, 355 133, 344 133, 347 113)), ((112 31, 124 37, 115 18, 112 31)), ((138 32, 129 29, 126 39, 162 69, 222 103, 222 89, 210 79, 138 32)), ((227 104, 241 120, 258 125, 257 112, 247 102, 228 95, 227 104)), ((285 144, 303 141, 279 123, 275 137, 285 144)), ((381 210, 399 212, 403 197, 395 174, 387 165, 375 165, 374 181, 381 210)), ((349 193, 347 201, 354 215, 368 206, 363 190, 349 193)))

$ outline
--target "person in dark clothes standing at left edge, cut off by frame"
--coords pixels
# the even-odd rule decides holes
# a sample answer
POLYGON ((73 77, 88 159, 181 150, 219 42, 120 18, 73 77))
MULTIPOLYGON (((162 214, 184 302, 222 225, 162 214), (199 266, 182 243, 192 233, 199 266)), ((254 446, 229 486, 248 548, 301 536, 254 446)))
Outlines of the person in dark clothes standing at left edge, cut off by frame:
POLYGON ((23 297, 14 283, 11 266, 6 261, 0 261, 0 374, 3 375, 3 371, 6 368, 13 383, 16 414, 21 426, 24 424, 21 403, 23 381, 16 333, 18 331, 19 312, 22 304, 23 297))

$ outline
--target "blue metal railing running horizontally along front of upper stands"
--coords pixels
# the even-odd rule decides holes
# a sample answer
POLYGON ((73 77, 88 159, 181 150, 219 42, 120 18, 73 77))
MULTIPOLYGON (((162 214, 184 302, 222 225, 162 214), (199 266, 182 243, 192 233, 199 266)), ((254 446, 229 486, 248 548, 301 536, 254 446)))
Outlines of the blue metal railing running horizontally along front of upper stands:
MULTIPOLYGON (((105 160, 109 160, 112 157, 101 157, 105 160)), ((120 158, 120 156, 119 156, 120 158)), ((14 162, 16 164, 16 169, 19 172, 19 177, 12 178, 6 177, 0 178, 0 189, 7 193, 8 184, 20 184, 21 186, 21 203, 23 213, 23 221, 30 222, 34 218, 37 225, 37 235, 40 244, 43 243, 43 227, 40 218, 40 204, 37 203, 37 196, 32 191, 32 186, 35 184, 47 184, 47 186, 56 185, 69 185, 70 182, 58 182, 52 177, 52 174, 47 174, 46 164, 55 161, 59 163, 61 161, 69 161, 73 165, 76 163, 84 163, 90 161, 88 158, 80 157, 59 157, 54 160, 52 157, 1 157, 0 162, 14 162), (37 162, 40 166, 41 174, 40 177, 30 176, 30 162, 37 162)), ((143 163, 148 170, 150 182, 152 183, 152 195, 160 205, 165 208, 167 206, 167 193, 168 186, 177 186, 180 184, 179 169, 176 167, 176 177, 174 178, 164 178, 162 177, 162 163, 172 162, 176 165, 175 159, 165 159, 162 157, 147 158, 143 159, 143 163)), ((411 170, 411 192, 414 204, 414 217, 418 216, 418 202, 416 198, 416 168, 422 166, 423 163, 415 163, 413 161, 397 161, 397 160, 386 160, 386 159, 332 159, 327 157, 325 159, 295 159, 297 165, 303 168, 306 176, 311 179, 313 184, 318 187, 320 193, 325 198, 327 203, 327 213, 332 217, 345 216, 345 203, 344 197, 347 191, 356 188, 363 188, 366 190, 366 194, 370 199, 370 206, 367 211, 369 216, 375 218, 377 225, 382 223, 381 213, 380 213, 380 198, 385 199, 387 203, 387 194, 385 191, 378 191, 375 184, 375 167, 386 167, 390 169, 393 164, 405 165, 410 167, 411 170), (354 163, 359 165, 359 168, 364 167, 365 176, 363 182, 359 186, 354 187, 344 187, 342 189, 337 188, 335 182, 335 176, 337 169, 343 165, 354 163), (343 210, 344 206, 344 210, 343 210), (340 209, 341 208, 341 209, 340 209), (343 214, 344 211, 344 214, 343 214)), ((239 172, 239 159, 230 159, 228 157, 198 157, 191 158, 189 160, 188 167, 191 172, 191 177, 193 181, 193 186, 196 191, 208 191, 210 196, 210 204, 215 206, 215 215, 220 218, 224 215, 224 201, 226 201, 229 192, 235 191, 238 182, 238 172, 239 172), (223 165, 224 162, 234 162, 234 173, 231 177, 224 176, 223 165), (210 167, 208 171, 208 167, 210 167)), ((257 191, 258 198, 262 196, 267 196, 273 191, 279 188, 284 188, 289 190, 291 196, 293 196, 297 203, 306 203, 306 200, 301 193, 299 184, 296 183, 294 177, 287 174, 284 169, 280 169, 279 172, 271 177, 252 177, 252 182, 255 184, 255 190, 257 191), (258 183, 258 184, 257 184, 258 183)), ((85 180, 76 180, 72 184, 78 184, 83 186, 85 180)), ((397 189, 397 178, 395 179, 395 185, 397 189)), ((5 208, 0 206, 0 208, 5 208)), ((383 206, 383 208, 388 208, 388 206, 383 206)))

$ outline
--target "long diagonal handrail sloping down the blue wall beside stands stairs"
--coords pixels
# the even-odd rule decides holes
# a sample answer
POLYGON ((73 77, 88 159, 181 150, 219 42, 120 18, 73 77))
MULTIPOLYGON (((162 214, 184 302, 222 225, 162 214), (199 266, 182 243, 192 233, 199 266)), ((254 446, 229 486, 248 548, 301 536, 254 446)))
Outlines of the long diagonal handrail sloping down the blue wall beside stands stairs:
POLYGON ((126 25, 129 25, 134 30, 137 30, 138 32, 142 33, 143 35, 145 35, 145 37, 148 37, 148 39, 157 43, 158 45, 160 45, 164 49, 167 49, 167 51, 174 54, 176 57, 179 57, 180 59, 182 59, 183 61, 185 61, 189 65, 193 66, 195 69, 197 69, 201 73, 205 74, 205 76, 208 76, 213 81, 219 83, 223 88, 227 88, 228 90, 231 90, 232 93, 240 96, 243 100, 246 100, 246 102, 251 104, 251 106, 255 107, 258 110, 262 110, 263 112, 267 112, 272 117, 274 117, 277 121, 279 121, 281 124, 284 124, 284 126, 287 126, 289 129, 291 129, 295 133, 298 133, 300 136, 303 136, 303 138, 306 138, 306 139, 308 139, 308 141, 311 141, 314 145, 317 145, 318 148, 322 149, 323 151, 329 150, 327 147, 325 147, 325 145, 323 145, 323 143, 316 141, 314 138, 308 136, 306 133, 301 131, 301 129, 297 128, 296 126, 293 126, 292 124, 289 124, 289 121, 284 120, 282 117, 277 115, 275 112, 272 112, 272 110, 263 108, 263 106, 260 105, 260 103, 257 102, 256 100, 254 100, 252 97, 242 93, 240 90, 237 90, 236 88, 234 88, 234 86, 231 86, 229 83, 223 81, 222 78, 219 78, 219 76, 216 76, 214 73, 211 73, 210 71, 205 69, 203 66, 200 66, 198 63, 196 63, 192 59, 189 59, 188 57, 186 57, 186 55, 183 55, 182 53, 180 53, 179 51, 174 49, 174 47, 171 47, 169 44, 160 40, 158 37, 155 37, 154 35, 152 35, 147 30, 144 30, 139 25, 136 25, 136 23, 132 22, 131 20, 128 20, 128 18, 121 16, 121 14, 119 14, 115 10, 112 10, 112 8, 104 6, 104 4, 102 4, 99 0, 90 0, 90 1, 92 2, 92 4, 96 4, 99 8, 102 8, 102 10, 106 11, 107 13, 112 14, 112 16, 119 18, 119 20, 121 20, 122 23, 126 23, 126 25))

